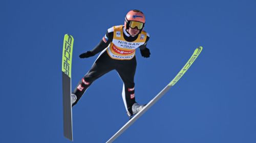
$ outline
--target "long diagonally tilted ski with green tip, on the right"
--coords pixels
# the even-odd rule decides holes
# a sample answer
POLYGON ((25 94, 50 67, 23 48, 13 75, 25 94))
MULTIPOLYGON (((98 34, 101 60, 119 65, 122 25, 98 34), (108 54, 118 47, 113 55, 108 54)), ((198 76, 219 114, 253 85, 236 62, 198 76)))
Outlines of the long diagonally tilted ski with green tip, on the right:
POLYGON ((185 66, 180 70, 180 72, 174 77, 172 81, 170 81, 166 87, 158 93, 150 102, 147 103, 147 105, 140 110, 131 120, 129 120, 119 131, 117 131, 106 143, 113 142, 118 136, 120 136, 127 128, 129 128, 138 118, 140 118, 143 113, 145 113, 152 105, 154 105, 170 88, 172 88, 179 79, 184 75, 184 73, 188 70, 188 68, 194 63, 194 61, 197 59, 198 55, 201 53, 203 47, 198 47, 194 51, 191 58, 187 61, 185 66))

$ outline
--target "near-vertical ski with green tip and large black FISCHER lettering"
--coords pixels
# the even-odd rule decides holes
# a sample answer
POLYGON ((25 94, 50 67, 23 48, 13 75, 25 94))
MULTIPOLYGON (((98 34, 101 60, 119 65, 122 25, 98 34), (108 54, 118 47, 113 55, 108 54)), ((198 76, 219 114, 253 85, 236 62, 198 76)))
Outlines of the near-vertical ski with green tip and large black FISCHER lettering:
POLYGON ((74 39, 71 35, 64 36, 62 51, 62 100, 63 100, 63 132, 64 136, 73 141, 72 105, 71 105, 71 63, 74 39))

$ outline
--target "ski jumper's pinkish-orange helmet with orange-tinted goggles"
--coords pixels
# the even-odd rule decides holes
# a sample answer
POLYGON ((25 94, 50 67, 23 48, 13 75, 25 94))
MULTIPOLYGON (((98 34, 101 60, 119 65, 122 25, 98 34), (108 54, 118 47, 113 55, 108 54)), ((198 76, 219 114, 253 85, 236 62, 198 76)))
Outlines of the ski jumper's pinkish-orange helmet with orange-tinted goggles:
POLYGON ((126 14, 125 20, 124 20, 125 30, 128 30, 130 27, 131 28, 137 27, 141 33, 144 25, 145 25, 145 16, 141 11, 131 10, 126 14))

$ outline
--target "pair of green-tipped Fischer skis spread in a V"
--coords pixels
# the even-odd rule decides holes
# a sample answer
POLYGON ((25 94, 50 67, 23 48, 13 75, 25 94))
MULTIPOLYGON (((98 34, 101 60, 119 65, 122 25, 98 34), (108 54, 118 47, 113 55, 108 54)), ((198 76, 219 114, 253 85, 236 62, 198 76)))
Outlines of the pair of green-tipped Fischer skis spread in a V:
MULTIPOLYGON (((73 141, 72 133, 72 105, 71 105, 71 63, 73 50, 73 37, 66 34, 63 43, 62 55, 62 91, 63 91, 63 128, 64 136, 73 141)), ((194 63, 198 55, 201 53, 203 47, 198 47, 193 55, 187 61, 180 72, 170 81, 166 87, 158 93, 147 105, 140 110, 131 120, 129 120, 119 131, 117 131, 106 143, 113 142, 120 136, 127 128, 129 128, 143 113, 145 113, 152 105, 154 105, 170 88, 172 88, 179 79, 185 74, 188 68, 194 63)))

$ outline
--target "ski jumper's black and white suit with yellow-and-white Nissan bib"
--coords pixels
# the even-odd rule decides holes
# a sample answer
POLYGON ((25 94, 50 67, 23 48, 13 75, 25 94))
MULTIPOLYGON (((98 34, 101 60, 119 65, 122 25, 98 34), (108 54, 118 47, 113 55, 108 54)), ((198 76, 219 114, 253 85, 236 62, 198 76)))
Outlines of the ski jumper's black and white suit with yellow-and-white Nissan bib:
POLYGON ((73 94, 77 96, 76 102, 82 97, 94 80, 111 70, 116 70, 123 81, 122 98, 129 116, 133 115, 132 105, 135 101, 134 75, 136 71, 135 49, 146 48, 149 34, 142 31, 135 37, 130 36, 123 25, 113 26, 108 29, 100 43, 91 51, 97 54, 97 60, 89 72, 80 80, 73 94))

